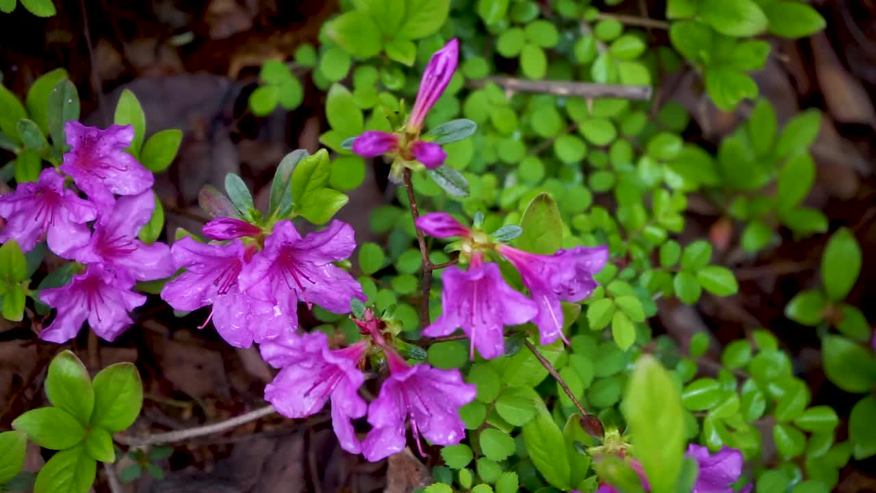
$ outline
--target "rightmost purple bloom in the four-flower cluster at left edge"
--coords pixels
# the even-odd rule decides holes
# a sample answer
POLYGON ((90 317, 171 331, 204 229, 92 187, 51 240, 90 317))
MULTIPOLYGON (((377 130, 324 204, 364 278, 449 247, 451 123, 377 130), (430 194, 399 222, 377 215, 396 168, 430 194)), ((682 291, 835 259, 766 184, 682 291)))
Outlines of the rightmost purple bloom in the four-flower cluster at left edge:
POLYGON ((74 252, 75 260, 103 262, 131 283, 170 277, 176 272, 170 247, 160 242, 146 245, 137 238, 154 208, 152 190, 120 197, 112 209, 102 212, 88 243, 74 252))

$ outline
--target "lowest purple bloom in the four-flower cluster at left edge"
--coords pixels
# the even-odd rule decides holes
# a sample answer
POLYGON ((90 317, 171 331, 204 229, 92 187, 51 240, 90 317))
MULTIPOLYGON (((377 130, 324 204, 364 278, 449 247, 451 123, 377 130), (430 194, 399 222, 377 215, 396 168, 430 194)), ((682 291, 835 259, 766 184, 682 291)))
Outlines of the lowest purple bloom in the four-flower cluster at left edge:
POLYGON ((145 296, 131 291, 131 286, 132 283, 120 282, 98 263, 74 275, 66 286, 43 289, 40 299, 58 313, 52 323, 39 332, 39 339, 67 342, 76 336, 86 320, 102 339, 116 339, 133 323, 128 312, 146 301, 145 296))

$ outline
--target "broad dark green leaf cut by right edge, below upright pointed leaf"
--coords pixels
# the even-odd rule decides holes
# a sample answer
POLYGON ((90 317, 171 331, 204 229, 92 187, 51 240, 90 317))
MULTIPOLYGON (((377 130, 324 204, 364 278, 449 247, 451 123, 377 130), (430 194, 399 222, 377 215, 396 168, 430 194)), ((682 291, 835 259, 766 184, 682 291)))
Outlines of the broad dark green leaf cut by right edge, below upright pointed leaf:
POLYGON ((827 336, 822 341, 824 373, 846 392, 867 392, 876 385, 876 358, 849 339, 827 336))

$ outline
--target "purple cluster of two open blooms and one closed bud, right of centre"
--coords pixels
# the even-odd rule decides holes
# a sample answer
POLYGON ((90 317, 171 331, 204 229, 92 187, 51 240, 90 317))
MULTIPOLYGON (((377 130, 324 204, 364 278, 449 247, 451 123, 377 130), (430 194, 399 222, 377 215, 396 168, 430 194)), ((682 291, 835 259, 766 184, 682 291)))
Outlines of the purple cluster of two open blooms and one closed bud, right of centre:
MULTIPOLYGON (((474 241, 469 228, 443 212, 420 216, 416 225, 436 238, 474 241)), ((471 339, 472 358, 476 348, 486 359, 502 355, 505 325, 533 322, 541 344, 565 339, 560 302, 576 303, 590 296, 597 287, 593 275, 605 267, 609 255, 604 246, 562 249, 553 255, 530 254, 502 244, 491 248, 517 268, 529 296, 512 289, 498 264, 484 263, 481 251, 474 249, 468 270, 450 266, 443 272, 442 316, 423 330, 429 337, 440 337, 462 328, 471 339)))

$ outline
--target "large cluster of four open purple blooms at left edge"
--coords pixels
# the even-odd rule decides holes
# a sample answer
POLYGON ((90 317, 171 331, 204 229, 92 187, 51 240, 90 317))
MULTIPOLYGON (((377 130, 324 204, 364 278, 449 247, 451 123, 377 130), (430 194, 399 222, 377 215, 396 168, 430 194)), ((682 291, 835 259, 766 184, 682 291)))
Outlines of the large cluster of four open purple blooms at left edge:
POLYGON ((145 303, 131 290, 134 283, 175 272, 169 247, 137 238, 155 207, 154 178, 125 151, 134 138, 131 125, 101 130, 71 121, 64 131, 71 149, 60 168, 0 196, 6 219, 0 241, 15 239, 26 252, 46 239, 54 254, 83 266, 66 286, 40 293, 58 311, 41 339, 66 342, 88 320, 98 336, 113 340, 131 325, 129 312, 145 303), (68 188, 66 177, 88 198, 68 188))

